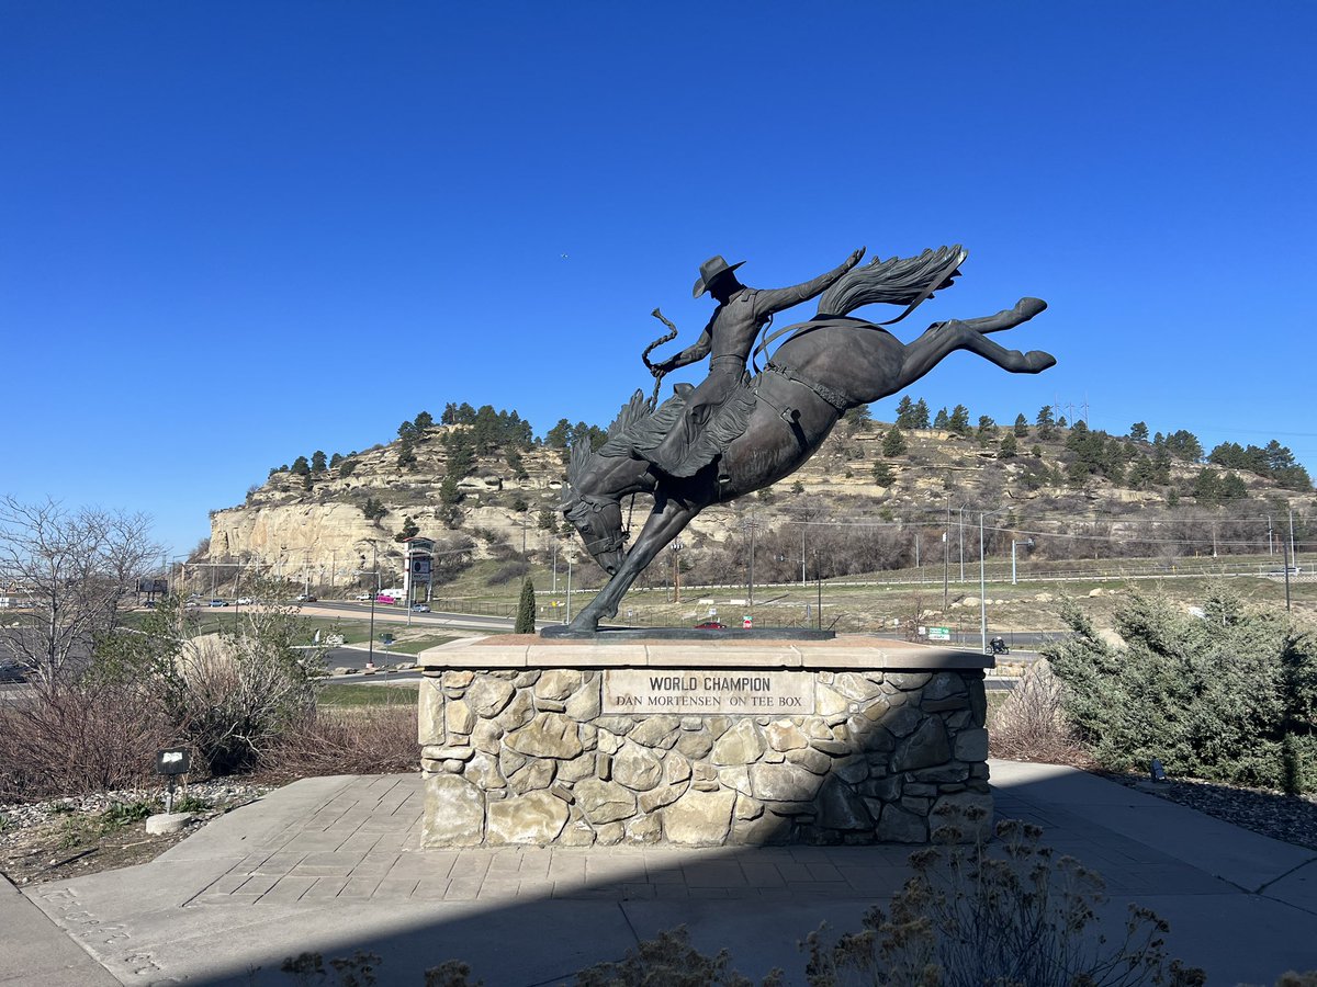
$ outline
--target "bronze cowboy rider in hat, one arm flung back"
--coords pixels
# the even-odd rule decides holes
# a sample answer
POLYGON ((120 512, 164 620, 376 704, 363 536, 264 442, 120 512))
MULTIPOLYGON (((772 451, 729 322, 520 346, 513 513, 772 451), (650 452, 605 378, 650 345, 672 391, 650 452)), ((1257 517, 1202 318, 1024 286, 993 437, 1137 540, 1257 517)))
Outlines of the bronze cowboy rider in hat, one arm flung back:
POLYGON ((777 312, 822 295, 864 257, 864 247, 851 254, 840 267, 792 288, 748 288, 736 280, 744 263, 728 265, 711 257, 699 266, 694 296, 706 291, 718 301, 709 325, 695 343, 652 367, 661 376, 677 367, 710 357, 709 376, 686 397, 685 412, 668 436, 652 449, 639 450, 643 458, 669 476, 693 476, 707 466, 715 450, 693 449, 709 422, 748 379, 745 363, 760 329, 777 312))

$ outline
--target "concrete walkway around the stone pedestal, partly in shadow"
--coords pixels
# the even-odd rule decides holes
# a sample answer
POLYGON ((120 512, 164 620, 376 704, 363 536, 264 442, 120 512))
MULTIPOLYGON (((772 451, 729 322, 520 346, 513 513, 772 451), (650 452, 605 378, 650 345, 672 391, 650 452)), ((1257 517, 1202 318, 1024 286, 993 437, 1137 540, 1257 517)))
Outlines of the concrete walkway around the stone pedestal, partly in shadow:
MULTIPOLYGON (((1171 954, 1210 983, 1317 969, 1317 853, 1071 769, 992 771, 998 815, 1098 870, 1112 917, 1130 901, 1166 917, 1171 954)), ((3 886, 0 983, 287 984, 284 957, 363 949, 382 984, 460 958, 491 987, 531 987, 681 924, 741 973, 799 983, 801 938, 857 929, 910 874, 896 846, 420 851, 420 812, 411 775, 307 779, 151 863, 3 886)))

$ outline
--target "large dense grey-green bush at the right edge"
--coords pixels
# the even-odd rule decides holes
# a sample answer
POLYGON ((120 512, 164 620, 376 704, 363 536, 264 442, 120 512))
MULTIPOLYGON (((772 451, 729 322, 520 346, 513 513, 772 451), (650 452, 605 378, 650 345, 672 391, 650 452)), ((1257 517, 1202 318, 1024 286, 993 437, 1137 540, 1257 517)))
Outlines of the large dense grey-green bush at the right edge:
POLYGON ((1204 619, 1131 596, 1115 612, 1125 647, 1102 641, 1073 603, 1063 612, 1075 636, 1043 653, 1101 765, 1142 771, 1156 757, 1171 774, 1280 788, 1288 761, 1292 783, 1317 788, 1310 632, 1285 615, 1249 613, 1223 591, 1204 619))

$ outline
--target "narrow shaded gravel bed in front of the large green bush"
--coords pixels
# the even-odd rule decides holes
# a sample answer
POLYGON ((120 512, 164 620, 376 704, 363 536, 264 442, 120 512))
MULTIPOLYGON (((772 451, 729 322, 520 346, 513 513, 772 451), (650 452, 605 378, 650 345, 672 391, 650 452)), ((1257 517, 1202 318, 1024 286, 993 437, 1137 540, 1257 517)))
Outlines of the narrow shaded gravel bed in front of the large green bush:
POLYGON ((1167 801, 1188 805, 1241 829, 1317 850, 1317 796, 1283 795, 1266 788, 1233 788, 1220 782, 1198 779, 1154 783, 1131 775, 1105 776, 1167 801))

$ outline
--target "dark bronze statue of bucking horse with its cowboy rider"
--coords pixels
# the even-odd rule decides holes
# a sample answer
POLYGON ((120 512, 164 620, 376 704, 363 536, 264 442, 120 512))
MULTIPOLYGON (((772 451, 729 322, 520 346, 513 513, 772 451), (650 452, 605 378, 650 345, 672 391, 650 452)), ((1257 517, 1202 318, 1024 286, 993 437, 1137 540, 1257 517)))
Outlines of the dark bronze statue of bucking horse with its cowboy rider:
POLYGON ((701 388, 678 384, 662 404, 657 403, 658 384, 648 400, 636 391, 599 449, 591 450, 587 438, 573 446, 568 465, 570 490, 561 509, 611 579, 565 628, 568 633, 598 630, 602 619, 618 613, 623 595, 640 572, 695 515, 710 504, 752 494, 789 476, 805 465, 849 408, 910 387, 956 350, 977 353, 1011 374, 1038 374, 1056 362, 1040 350, 1008 350, 988 338, 989 333, 1013 329, 1047 308, 1044 301, 1031 297, 994 316, 934 322, 917 340, 902 343, 884 326, 909 315, 934 291, 950 287, 968 254, 954 246, 859 266, 861 254, 863 250, 856 251, 842 267, 814 282, 770 292, 747 288, 732 274, 740 265, 728 266, 720 257, 712 258, 701 268, 695 295, 709 290, 719 301, 718 311, 699 343, 658 367, 649 363, 649 351, 677 333, 655 309, 653 315, 672 329, 644 354, 660 384, 666 370, 694 362, 710 350, 710 378, 722 361, 720 372, 730 371, 735 379, 731 384, 719 383, 716 401, 712 407, 705 407, 710 403, 703 401, 698 415, 695 405, 709 382, 701 388), (814 296, 819 297, 814 318, 769 334, 755 357, 766 351, 772 341, 782 336, 786 340, 765 368, 751 376, 745 371, 749 347, 760 330, 766 332, 772 313, 814 296), (851 315, 873 303, 906 308, 884 324, 851 315), (722 326, 730 325, 738 311, 745 315, 736 324, 741 342, 724 345, 730 354, 720 354, 719 333, 727 343, 731 334, 722 326), (674 432, 680 430, 693 433, 681 446, 690 453, 681 457, 681 467, 673 465, 672 454, 674 432), (705 454, 694 455, 699 449, 705 454), (660 451, 664 454, 658 455, 660 451), (627 547, 622 504, 637 494, 649 495, 653 509, 627 547))

